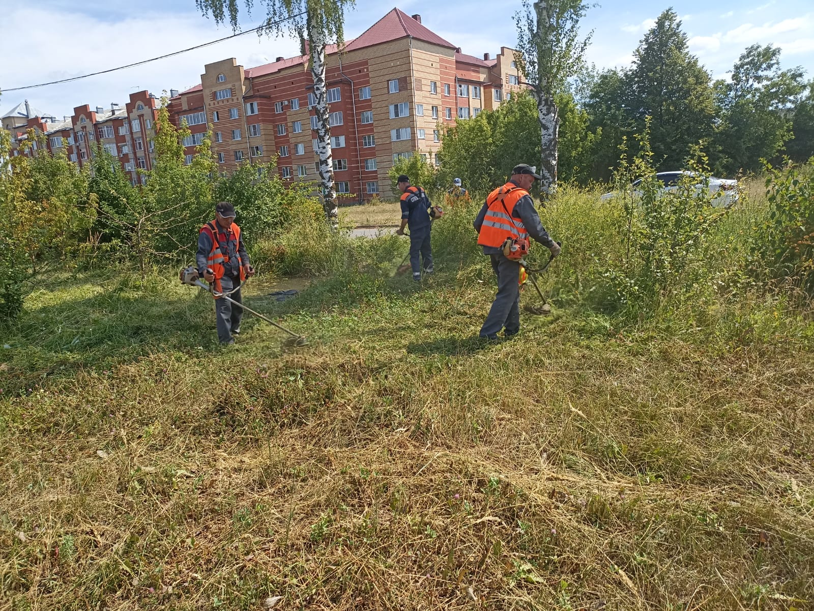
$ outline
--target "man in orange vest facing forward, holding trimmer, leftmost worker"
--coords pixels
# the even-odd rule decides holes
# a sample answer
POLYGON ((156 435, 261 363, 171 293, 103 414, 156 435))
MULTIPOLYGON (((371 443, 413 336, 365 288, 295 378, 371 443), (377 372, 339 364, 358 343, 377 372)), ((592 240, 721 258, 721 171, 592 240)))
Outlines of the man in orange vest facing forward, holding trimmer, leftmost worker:
POLYGON ((212 286, 217 338, 225 345, 234 344, 232 336, 240 333, 243 308, 233 306, 226 299, 218 299, 218 295, 229 295, 234 301, 243 303, 240 285, 254 275, 240 228, 233 221, 234 206, 229 202, 218 203, 215 220, 210 220, 200 230, 195 255, 198 273, 212 286))

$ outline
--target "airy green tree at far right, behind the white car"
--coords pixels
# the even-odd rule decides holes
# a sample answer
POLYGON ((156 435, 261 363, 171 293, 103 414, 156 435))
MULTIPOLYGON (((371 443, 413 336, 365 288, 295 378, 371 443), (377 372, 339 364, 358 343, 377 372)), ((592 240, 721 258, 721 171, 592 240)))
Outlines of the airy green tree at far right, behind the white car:
POLYGON ((758 170, 760 159, 772 159, 791 137, 791 109, 803 92, 803 69, 781 71, 780 51, 752 45, 737 59, 731 81, 716 82, 719 165, 729 172, 758 170))

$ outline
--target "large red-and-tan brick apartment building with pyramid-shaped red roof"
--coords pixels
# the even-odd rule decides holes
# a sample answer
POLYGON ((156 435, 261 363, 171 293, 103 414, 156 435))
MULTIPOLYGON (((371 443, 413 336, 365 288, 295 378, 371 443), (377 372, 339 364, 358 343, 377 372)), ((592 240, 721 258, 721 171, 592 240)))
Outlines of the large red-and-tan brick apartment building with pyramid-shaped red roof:
MULTIPOLYGON (((419 153, 437 163, 440 129, 496 108, 521 89, 514 51, 496 58, 465 55, 422 25, 421 16, 393 9, 326 52, 330 135, 337 191, 356 199, 391 197, 387 171, 400 156, 419 153)), ((277 58, 256 68, 233 59, 208 63, 199 85, 173 91, 174 124, 190 128, 186 160, 208 124, 212 151, 225 172, 278 155, 285 179, 318 180, 316 117, 308 56, 277 58)))

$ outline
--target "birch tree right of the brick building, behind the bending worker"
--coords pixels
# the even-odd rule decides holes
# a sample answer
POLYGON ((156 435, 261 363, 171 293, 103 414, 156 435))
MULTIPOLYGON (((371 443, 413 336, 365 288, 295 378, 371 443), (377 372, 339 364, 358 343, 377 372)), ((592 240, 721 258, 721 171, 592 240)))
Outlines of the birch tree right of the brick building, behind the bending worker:
POLYGON ((592 33, 580 41, 580 19, 590 5, 582 0, 523 1, 515 15, 519 50, 514 55, 523 84, 537 103, 540 123, 540 190, 557 189, 557 143, 560 117, 554 96, 562 93, 569 76, 582 63, 592 33))

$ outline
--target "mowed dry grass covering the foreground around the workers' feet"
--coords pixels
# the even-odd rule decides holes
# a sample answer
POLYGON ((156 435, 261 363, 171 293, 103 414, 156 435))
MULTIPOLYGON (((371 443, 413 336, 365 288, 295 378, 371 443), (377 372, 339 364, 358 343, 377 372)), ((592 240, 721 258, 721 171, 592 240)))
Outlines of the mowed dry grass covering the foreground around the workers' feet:
POLYGON ((223 350, 171 270, 42 286, 0 352, 0 609, 811 608, 811 351, 556 301, 484 346, 492 291, 249 290, 311 345, 223 350))

